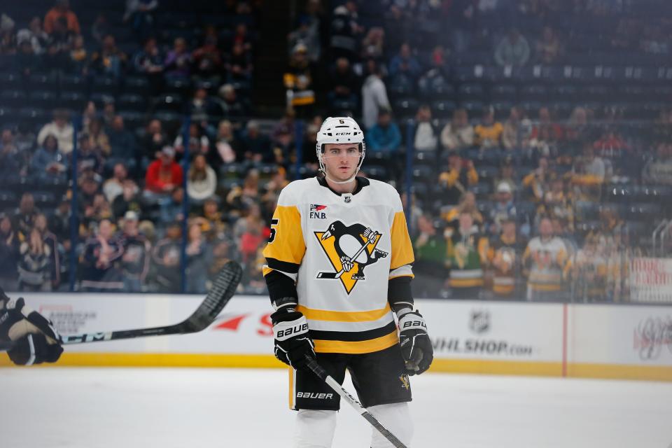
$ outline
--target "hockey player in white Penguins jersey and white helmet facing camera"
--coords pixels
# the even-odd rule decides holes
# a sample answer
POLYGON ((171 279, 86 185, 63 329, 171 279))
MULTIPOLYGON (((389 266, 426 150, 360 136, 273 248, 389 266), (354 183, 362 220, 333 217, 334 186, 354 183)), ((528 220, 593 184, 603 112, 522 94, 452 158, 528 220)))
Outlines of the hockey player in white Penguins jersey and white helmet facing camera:
MULTIPOLYGON (((281 191, 264 250, 275 355, 290 366, 298 411, 294 446, 330 447, 339 409, 339 395, 305 370, 307 356, 341 383, 349 370, 362 405, 408 444, 408 375, 429 368, 433 349, 413 310, 401 200, 386 183, 356 177, 365 145, 352 118, 327 118, 316 150, 324 177, 281 191)), ((391 446, 373 430, 372 448, 391 446)))

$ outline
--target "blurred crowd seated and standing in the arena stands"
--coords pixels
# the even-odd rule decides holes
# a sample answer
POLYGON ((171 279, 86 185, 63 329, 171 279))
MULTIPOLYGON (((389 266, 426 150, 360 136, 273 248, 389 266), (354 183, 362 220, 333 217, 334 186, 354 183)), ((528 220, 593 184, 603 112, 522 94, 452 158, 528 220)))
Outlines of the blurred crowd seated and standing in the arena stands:
POLYGON ((203 293, 235 259, 265 293, 279 191, 316 173, 319 125, 345 113, 365 128, 362 174, 412 187, 416 295, 627 300, 627 260, 670 211, 672 112, 651 105, 672 91, 575 66, 655 66, 672 13, 638 34, 651 15, 627 1, 309 0, 271 122, 251 106, 258 2, 179 29, 162 3, 2 15, 6 289, 203 293))

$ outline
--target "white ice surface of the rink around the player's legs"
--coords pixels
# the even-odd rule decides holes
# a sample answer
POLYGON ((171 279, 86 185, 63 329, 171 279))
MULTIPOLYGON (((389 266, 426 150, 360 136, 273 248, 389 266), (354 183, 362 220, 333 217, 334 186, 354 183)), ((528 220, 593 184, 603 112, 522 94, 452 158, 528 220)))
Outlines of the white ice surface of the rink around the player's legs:
MULTIPOLYGON (((671 384, 424 374, 412 387, 414 448, 672 444, 671 384)), ((0 447, 291 447, 287 395, 283 370, 2 369, 0 447)), ((338 421, 335 448, 370 446, 346 403, 338 421)))

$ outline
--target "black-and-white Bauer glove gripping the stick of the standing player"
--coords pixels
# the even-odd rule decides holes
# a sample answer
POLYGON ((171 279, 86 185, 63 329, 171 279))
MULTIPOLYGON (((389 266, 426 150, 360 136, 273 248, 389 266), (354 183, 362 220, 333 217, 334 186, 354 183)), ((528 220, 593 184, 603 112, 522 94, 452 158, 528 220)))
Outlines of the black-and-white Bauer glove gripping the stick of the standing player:
POLYGON ((271 314, 275 357, 296 370, 306 368, 306 355, 315 357, 315 344, 308 335, 308 323, 299 311, 283 307, 271 314))

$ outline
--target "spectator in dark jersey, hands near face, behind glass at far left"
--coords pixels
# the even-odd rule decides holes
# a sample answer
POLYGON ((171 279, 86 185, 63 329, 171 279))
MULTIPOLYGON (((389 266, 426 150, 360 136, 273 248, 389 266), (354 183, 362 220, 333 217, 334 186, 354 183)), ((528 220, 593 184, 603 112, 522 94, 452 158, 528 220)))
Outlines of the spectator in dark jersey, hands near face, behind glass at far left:
POLYGON ((51 290, 52 252, 48 244, 42 241, 40 231, 33 228, 19 249, 19 290, 51 290))

